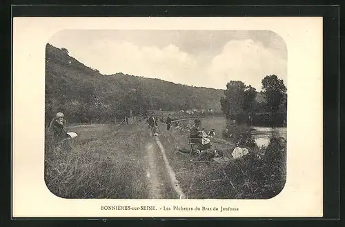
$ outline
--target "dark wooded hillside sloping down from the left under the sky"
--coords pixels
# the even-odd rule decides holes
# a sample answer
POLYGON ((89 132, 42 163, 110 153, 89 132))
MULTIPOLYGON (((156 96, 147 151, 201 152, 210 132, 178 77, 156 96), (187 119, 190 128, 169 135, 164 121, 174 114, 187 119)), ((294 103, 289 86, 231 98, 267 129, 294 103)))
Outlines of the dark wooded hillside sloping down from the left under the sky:
POLYGON ((210 109, 221 112, 224 90, 184 86, 160 79, 116 73, 101 75, 68 55, 46 46, 46 121, 57 111, 70 123, 112 121, 146 110, 210 109))

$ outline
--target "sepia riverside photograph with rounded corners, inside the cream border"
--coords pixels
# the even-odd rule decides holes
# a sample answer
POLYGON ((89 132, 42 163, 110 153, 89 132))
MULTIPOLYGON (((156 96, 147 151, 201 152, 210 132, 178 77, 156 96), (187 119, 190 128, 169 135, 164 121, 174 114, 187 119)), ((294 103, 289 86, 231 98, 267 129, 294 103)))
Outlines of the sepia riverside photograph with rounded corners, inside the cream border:
POLYGON ((45 55, 44 179, 57 197, 283 190, 288 49, 275 32, 71 29, 45 55))

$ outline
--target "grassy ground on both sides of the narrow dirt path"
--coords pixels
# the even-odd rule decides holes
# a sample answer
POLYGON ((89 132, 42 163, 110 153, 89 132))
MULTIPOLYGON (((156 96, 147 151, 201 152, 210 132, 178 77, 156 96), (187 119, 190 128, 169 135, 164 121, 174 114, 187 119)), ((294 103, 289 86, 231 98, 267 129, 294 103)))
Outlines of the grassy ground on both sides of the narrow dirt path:
MULTIPOLYGON (((181 123, 185 126, 188 121, 181 123)), ((218 131, 222 126, 215 119, 204 119, 202 123, 205 130, 217 128, 218 131)), ((146 145, 152 143, 152 138, 148 137, 146 124, 72 126, 68 131, 79 135, 72 141, 69 153, 61 148, 49 149, 46 143, 45 177, 52 193, 64 198, 150 197, 152 186, 146 180, 146 170, 152 166, 145 160, 146 145)), ((275 152, 278 148, 269 146, 267 149, 273 152, 268 154, 273 155, 262 159, 250 156, 224 163, 190 161, 188 154, 178 152, 180 148, 189 149, 188 133, 177 128, 166 131, 164 124, 159 124, 159 140, 188 198, 266 199, 284 187, 285 163, 281 158, 284 154, 275 152)), ((225 157, 230 157, 234 147, 213 144, 225 157)), ((154 166, 157 166, 159 179, 165 181, 163 193, 170 196, 171 188, 166 183, 166 170, 160 165, 157 144, 153 144, 153 148, 157 156, 153 159, 154 166)))

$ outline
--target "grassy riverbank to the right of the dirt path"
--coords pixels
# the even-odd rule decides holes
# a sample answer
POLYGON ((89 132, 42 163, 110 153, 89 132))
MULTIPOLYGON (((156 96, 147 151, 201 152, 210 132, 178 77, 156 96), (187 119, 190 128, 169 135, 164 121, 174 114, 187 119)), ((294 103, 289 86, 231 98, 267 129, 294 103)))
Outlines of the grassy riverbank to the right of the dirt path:
POLYGON ((188 148, 186 138, 188 132, 174 130, 166 132, 161 141, 168 147, 170 164, 188 198, 269 199, 284 188, 286 147, 279 145, 277 135, 272 136, 267 148, 249 148, 250 155, 241 159, 230 157, 235 144, 214 144, 213 148, 222 150, 228 158, 221 163, 188 161, 188 155, 177 152, 188 148))

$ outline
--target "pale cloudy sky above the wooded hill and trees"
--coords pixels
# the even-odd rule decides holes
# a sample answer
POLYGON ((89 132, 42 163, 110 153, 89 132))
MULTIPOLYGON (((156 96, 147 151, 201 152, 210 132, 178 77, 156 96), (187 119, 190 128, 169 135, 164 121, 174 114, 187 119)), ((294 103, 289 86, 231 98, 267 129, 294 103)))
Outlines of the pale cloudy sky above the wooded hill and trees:
POLYGON ((270 31, 63 30, 49 43, 105 75, 221 89, 240 80, 261 90, 262 79, 275 74, 287 84, 286 45, 270 31))

